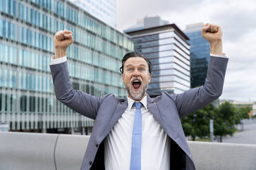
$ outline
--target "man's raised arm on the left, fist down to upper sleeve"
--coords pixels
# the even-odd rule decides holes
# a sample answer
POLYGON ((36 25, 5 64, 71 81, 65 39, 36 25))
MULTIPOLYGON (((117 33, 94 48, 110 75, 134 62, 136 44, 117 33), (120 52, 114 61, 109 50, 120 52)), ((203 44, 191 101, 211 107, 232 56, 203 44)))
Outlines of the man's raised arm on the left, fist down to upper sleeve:
MULTIPOLYGON (((73 42, 72 32, 67 30, 57 32, 54 36, 54 60, 66 58, 67 47, 73 42)), ((50 65, 56 98, 72 110, 95 119, 103 98, 88 95, 80 90, 74 90, 67 71, 67 62, 63 60, 57 63, 50 65)))

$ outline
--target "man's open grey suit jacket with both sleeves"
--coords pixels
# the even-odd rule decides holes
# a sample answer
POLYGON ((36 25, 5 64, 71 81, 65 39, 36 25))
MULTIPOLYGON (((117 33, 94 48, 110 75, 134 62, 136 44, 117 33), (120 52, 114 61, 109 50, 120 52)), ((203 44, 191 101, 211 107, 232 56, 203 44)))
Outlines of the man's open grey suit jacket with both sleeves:
MULTIPOLYGON (((193 158, 180 123, 180 117, 195 112, 222 94, 228 58, 210 57, 204 86, 192 88, 178 95, 162 92, 147 106, 161 127, 171 138, 171 169, 195 169, 193 158)), ((67 71, 67 62, 51 65, 56 98, 85 117, 94 119, 89 143, 81 169, 105 169, 104 139, 127 108, 127 99, 113 94, 94 97, 74 90, 67 71)))

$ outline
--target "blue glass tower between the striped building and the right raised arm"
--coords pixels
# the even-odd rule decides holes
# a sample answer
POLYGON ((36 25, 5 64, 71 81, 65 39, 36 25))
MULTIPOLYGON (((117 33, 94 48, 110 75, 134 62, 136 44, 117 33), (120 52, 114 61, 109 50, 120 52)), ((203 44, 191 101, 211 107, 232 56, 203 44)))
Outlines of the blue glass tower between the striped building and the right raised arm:
POLYGON ((204 84, 210 56, 210 44, 202 38, 203 23, 186 25, 184 32, 189 36, 191 55, 191 88, 204 84))

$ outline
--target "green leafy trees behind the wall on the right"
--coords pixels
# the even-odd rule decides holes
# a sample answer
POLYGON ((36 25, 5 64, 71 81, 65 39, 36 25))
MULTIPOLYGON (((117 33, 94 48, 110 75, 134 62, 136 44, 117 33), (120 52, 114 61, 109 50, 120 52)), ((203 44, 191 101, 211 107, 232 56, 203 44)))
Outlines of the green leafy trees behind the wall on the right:
POLYGON ((227 101, 218 108, 209 104, 189 116, 183 117, 181 119, 182 127, 184 134, 191 136, 194 141, 196 136, 200 138, 209 136, 209 121, 213 119, 215 136, 233 135, 236 130, 235 125, 241 123, 242 119, 248 118, 248 112, 250 112, 250 107, 236 108, 227 101))

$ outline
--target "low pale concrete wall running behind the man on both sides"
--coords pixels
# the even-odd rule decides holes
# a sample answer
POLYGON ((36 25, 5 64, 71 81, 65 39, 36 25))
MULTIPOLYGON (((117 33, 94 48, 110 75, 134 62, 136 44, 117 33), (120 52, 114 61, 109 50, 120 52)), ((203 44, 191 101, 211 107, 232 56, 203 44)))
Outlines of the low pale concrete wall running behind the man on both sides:
MULTIPOLYGON (((89 136, 0 132, 0 169, 80 169, 89 136)), ((189 141, 196 169, 256 169, 256 145, 189 141)))

